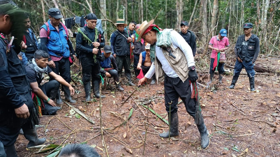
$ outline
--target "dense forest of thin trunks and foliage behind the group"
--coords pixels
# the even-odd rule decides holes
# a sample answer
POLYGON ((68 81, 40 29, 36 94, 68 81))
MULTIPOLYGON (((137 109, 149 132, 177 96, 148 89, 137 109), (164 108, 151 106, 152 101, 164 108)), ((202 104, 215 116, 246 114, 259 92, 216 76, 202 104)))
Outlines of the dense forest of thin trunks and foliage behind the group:
MULTIPOLYGON (((36 35, 48 20, 48 9, 59 8, 64 18, 95 13, 102 19, 106 41, 116 29, 116 19, 142 23, 155 19, 161 28, 180 31, 183 20, 197 36, 198 53, 206 54, 208 42, 219 30, 228 30, 233 45, 243 33, 243 24, 254 24, 253 33, 260 38, 260 55, 279 57, 280 0, 15 0, 31 13, 36 35)), ((73 27, 75 31, 79 26, 73 27)), ((233 47, 232 47, 233 48, 233 47)))

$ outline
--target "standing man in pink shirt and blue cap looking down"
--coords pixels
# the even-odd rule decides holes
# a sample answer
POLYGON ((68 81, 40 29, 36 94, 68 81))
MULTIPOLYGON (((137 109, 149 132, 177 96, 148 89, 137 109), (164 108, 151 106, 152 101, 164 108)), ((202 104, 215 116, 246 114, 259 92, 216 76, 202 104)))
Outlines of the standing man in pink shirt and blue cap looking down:
POLYGON ((214 78, 214 71, 216 70, 218 66, 218 71, 219 71, 219 82, 222 83, 222 74, 224 72, 223 66, 224 63, 218 63, 219 59, 217 58, 217 54, 220 52, 223 52, 230 47, 230 43, 228 41, 227 36, 227 30, 226 29, 221 29, 220 33, 216 36, 213 36, 209 42, 209 49, 212 49, 211 53, 211 60, 210 60, 210 82, 209 84, 212 83, 213 78, 214 78))

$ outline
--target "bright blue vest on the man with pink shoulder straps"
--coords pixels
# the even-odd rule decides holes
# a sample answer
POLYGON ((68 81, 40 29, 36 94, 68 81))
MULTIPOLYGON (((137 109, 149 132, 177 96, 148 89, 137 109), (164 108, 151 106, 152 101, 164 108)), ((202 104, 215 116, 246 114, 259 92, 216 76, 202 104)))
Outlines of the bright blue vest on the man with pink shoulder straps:
MULTIPOLYGON (((68 58, 70 56, 70 50, 67 44, 66 30, 59 24, 59 32, 57 32, 57 29, 50 24, 50 20, 48 20, 48 25, 50 29, 48 42, 46 44, 48 53, 52 56, 68 58)), ((40 29, 42 28, 48 31, 45 24, 42 25, 40 29)))

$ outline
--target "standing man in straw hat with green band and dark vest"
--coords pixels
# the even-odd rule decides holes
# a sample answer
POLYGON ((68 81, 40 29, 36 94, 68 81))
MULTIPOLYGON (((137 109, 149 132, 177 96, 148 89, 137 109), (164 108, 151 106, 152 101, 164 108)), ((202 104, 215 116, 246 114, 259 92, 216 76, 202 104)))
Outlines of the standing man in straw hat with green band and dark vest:
POLYGON ((131 82, 131 71, 130 71, 130 44, 132 41, 131 35, 129 31, 124 31, 125 20, 117 19, 117 30, 114 31, 111 35, 110 43, 112 47, 112 55, 116 58, 116 62, 118 65, 118 76, 120 77, 122 67, 125 68, 125 76, 127 77, 128 84, 131 86, 135 86, 131 82))

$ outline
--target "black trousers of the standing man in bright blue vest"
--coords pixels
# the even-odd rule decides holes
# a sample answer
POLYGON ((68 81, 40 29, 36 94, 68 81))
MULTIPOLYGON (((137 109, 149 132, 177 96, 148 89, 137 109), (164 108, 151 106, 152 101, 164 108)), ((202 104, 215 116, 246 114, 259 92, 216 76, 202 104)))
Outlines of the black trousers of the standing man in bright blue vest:
MULTIPOLYGON (((66 82, 70 83, 70 61, 68 58, 61 58, 59 61, 54 61, 55 68, 51 67, 52 71, 57 75, 60 75, 66 82)), ((54 78, 50 78, 54 80, 54 78)))

